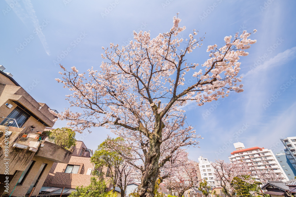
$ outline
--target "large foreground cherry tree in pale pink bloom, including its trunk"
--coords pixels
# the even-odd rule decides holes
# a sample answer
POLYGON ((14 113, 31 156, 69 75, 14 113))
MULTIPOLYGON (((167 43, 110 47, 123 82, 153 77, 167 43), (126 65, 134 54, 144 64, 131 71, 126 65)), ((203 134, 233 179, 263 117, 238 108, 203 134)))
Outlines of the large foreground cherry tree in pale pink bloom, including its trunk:
POLYGON ((196 39, 198 31, 193 30, 188 39, 179 38, 185 30, 185 26, 179 27, 180 22, 174 17, 170 31, 155 38, 150 38, 149 31, 134 32, 135 41, 127 46, 111 43, 109 48, 102 47, 100 71, 91 68, 86 74, 75 66, 71 71, 61 66, 62 79, 56 79, 73 92, 66 95, 72 110, 52 113, 67 120, 74 131, 109 128, 128 138, 130 148, 139 153, 133 159, 139 161, 135 167, 142 172, 141 197, 153 196, 159 169, 176 150, 198 144, 195 139, 200 136, 186 124, 181 107, 188 101, 201 106, 227 97, 230 91, 242 92, 239 56, 247 56, 244 50, 256 42, 248 39, 251 33, 246 31, 234 38, 226 36, 223 47, 208 46, 209 59, 190 73, 199 64, 186 62, 185 57, 201 46, 204 37, 196 39), (195 80, 185 86, 189 73, 195 80), (78 109, 82 110, 76 112, 78 109), (166 155, 161 153, 165 149, 169 150, 166 155))

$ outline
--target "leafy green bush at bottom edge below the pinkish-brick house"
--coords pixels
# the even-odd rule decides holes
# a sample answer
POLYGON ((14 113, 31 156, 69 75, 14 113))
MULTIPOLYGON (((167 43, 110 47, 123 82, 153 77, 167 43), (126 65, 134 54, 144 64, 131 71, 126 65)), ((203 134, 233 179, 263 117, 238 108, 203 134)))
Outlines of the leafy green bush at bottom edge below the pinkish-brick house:
POLYGON ((84 188, 83 186, 80 188, 77 186, 76 191, 73 191, 69 197, 106 197, 106 188, 104 179, 97 181, 95 177, 91 177, 91 184, 89 186, 84 188))

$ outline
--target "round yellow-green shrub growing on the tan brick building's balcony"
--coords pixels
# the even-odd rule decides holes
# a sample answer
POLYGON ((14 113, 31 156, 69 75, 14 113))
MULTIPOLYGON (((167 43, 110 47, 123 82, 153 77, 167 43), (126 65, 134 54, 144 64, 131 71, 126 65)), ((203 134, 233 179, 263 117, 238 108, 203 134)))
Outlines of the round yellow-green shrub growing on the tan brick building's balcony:
POLYGON ((55 143, 62 146, 65 149, 70 149, 71 146, 75 146, 75 131, 70 128, 57 128, 48 133, 49 137, 55 139, 55 143))

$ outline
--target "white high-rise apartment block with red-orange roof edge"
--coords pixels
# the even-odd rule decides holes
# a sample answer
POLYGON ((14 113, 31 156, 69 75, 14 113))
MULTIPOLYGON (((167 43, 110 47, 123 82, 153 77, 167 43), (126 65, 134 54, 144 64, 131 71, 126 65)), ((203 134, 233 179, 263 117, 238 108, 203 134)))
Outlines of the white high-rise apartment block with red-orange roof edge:
MULTIPOLYGON (((282 175, 284 182, 289 180, 281 164, 270 149, 258 146, 245 148, 241 142, 234 143, 233 145, 236 150, 231 152, 231 156, 228 157, 230 162, 238 160, 247 163, 247 165, 254 169, 273 170, 276 174, 282 175)), ((260 181, 258 177, 256 177, 256 180, 260 181)))

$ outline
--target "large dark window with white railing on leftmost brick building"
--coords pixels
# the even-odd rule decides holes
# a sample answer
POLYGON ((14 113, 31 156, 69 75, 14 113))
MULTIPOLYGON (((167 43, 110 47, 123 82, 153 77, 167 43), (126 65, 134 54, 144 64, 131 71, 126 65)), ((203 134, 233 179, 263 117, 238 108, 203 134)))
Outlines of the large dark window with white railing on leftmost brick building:
POLYGON ((28 120, 28 118, 30 117, 29 114, 27 114, 24 110, 22 110, 19 107, 16 107, 8 116, 7 118, 5 118, 0 125, 4 125, 4 126, 13 126, 13 127, 17 127, 17 125, 19 127, 21 127, 25 121, 28 120), (15 121, 17 121, 17 124, 15 123, 15 121, 13 119, 9 119, 9 118, 14 118, 15 121))

